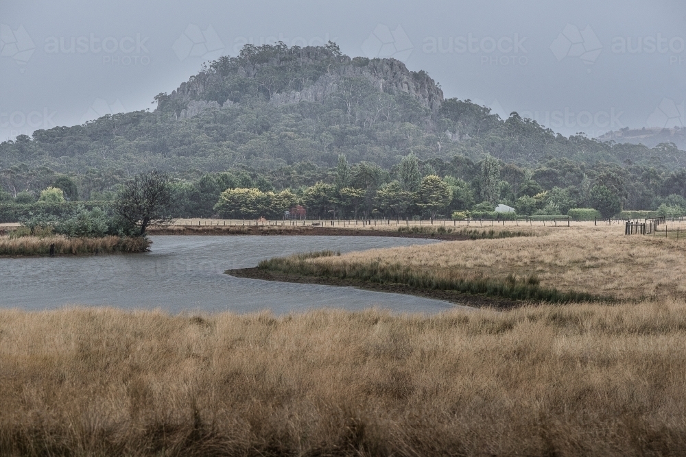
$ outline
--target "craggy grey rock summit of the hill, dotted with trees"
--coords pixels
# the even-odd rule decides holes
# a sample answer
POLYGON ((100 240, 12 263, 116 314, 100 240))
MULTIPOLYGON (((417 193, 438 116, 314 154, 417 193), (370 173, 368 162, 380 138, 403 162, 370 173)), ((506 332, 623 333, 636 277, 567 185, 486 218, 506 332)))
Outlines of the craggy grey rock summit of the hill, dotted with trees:
POLYGON ((354 99, 359 96, 355 92, 362 91, 359 80, 379 93, 409 95, 434 115, 443 101, 434 79, 424 71, 409 71, 399 60, 349 58, 333 43, 305 48, 248 45, 237 58, 220 58, 171 95, 159 96, 158 109, 174 110, 185 119, 260 95, 274 106, 324 102, 342 92, 354 99))

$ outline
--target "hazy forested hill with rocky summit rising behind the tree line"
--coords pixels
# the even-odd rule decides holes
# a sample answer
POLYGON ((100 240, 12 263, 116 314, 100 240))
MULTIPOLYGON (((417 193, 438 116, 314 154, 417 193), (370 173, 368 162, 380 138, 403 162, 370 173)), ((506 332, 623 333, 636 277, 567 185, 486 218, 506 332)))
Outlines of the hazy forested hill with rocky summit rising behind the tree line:
POLYGON ((243 186, 261 176, 275 188, 299 188, 325 180, 340 154, 370 182, 396 173, 410 153, 427 173, 469 180, 478 164, 496 158, 510 171, 535 170, 544 188, 578 187, 584 174, 599 170, 650 177, 686 169, 685 151, 659 145, 683 145, 683 129, 603 138, 615 143, 565 137, 516 112, 501 119, 469 100, 444 99, 424 71, 393 59, 351 58, 333 43, 246 45, 155 99, 154 112, 103 116, 0 143, 0 186, 12 195, 36 194, 56 175, 68 175, 80 195, 105 195, 136 173, 158 169, 187 180, 233 171, 243 186))

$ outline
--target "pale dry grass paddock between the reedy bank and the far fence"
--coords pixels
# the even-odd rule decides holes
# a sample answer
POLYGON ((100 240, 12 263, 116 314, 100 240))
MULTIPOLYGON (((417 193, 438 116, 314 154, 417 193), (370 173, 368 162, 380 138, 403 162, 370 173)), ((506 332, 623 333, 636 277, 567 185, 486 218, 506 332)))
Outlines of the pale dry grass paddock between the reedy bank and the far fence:
POLYGON ((624 227, 555 227, 540 236, 396 247, 308 260, 324 266, 379 262, 504 280, 536 274, 541 287, 620 299, 683 297, 686 240, 625 236, 624 227))

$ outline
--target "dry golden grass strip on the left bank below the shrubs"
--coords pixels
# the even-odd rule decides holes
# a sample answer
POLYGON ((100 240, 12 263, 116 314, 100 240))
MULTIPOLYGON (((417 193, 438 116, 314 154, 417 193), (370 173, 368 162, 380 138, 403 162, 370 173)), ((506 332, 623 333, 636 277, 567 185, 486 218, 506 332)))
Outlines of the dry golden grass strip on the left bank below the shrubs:
POLYGON ((0 236, 0 256, 47 256, 53 244, 57 256, 143 252, 150 246, 150 242, 141 237, 65 238, 55 235, 43 238, 38 236, 11 238, 0 236))

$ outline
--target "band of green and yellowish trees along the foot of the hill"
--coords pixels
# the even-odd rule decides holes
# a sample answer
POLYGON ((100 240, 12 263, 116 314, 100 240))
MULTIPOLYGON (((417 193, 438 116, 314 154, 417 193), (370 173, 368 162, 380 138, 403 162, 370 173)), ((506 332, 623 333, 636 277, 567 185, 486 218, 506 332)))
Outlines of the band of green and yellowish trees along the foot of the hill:
MULTIPOLYGON (((280 219, 296 204, 321 218, 428 218, 456 212, 466 217, 493 212, 499 203, 521 215, 595 208, 609 217, 623 209, 681 215, 686 211, 685 181, 686 171, 658 173, 646 166, 587 166, 549 158, 536 169, 526 169, 493 156, 479 162, 455 156, 446 162, 419 160, 411 153, 390 169, 373 162, 350 164, 340 154, 331 168, 304 163, 262 173, 233 169, 195 180, 177 177, 170 186, 175 217, 280 219)), ((67 197, 74 186, 71 177, 62 175, 37 195, 23 191, 13 198, 3 193, 1 199, 4 206, 74 201, 67 197)), ((121 188, 94 195, 112 200, 121 188)))

